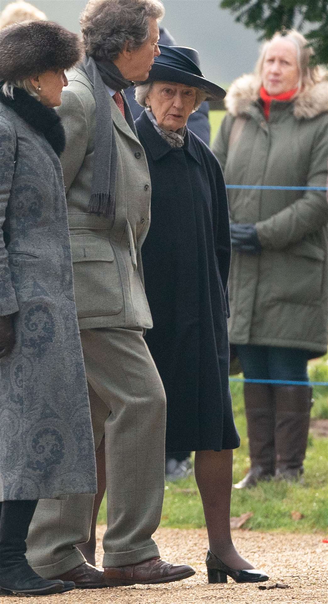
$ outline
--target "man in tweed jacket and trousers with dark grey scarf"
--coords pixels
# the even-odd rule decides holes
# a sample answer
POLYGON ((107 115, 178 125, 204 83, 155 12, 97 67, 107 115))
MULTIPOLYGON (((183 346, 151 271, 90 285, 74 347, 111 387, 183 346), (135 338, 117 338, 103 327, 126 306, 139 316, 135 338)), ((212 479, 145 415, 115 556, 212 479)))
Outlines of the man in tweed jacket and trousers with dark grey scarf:
MULTIPOLYGON (((162 16, 159 0, 91 0, 81 17, 86 61, 71 72, 58 110, 67 140, 62 167, 96 448, 103 435, 106 439, 105 570, 86 564, 75 547, 89 538, 90 495, 40 502, 28 559, 43 577, 70 577, 80 587, 168 582, 194 574, 191 567, 160 560, 151 538, 162 510, 165 441, 165 393, 143 338, 152 327, 140 255, 151 187, 128 106, 121 97, 124 117, 116 94, 121 82, 147 79, 159 54, 162 16), (114 161, 106 153, 96 156, 97 144, 108 142, 97 138, 103 118, 99 98, 105 98, 103 111, 112 115, 103 136, 113 135, 117 167, 115 210, 103 204, 95 213, 90 210, 95 173, 103 178, 106 162, 114 161)), ((84 463, 81 459, 81 472, 84 463)))

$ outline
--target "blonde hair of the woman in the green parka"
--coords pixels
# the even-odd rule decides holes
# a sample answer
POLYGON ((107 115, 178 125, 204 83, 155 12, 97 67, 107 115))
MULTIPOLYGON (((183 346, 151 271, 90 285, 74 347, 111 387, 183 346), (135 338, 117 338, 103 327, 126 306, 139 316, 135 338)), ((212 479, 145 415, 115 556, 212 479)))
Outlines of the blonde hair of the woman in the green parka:
POLYGON ((300 92, 306 91, 308 88, 312 88, 312 86, 318 82, 321 82, 327 77, 326 71, 323 69, 323 67, 320 65, 311 65, 311 57, 314 56, 314 50, 311 46, 309 46, 309 42, 304 36, 302 36, 302 34, 300 34, 299 31, 288 30, 283 34, 277 31, 270 40, 266 40, 260 50, 260 56, 255 66, 255 76, 257 78, 258 89, 260 89, 262 85, 262 69, 266 51, 270 47, 271 43, 279 40, 288 40, 288 42, 291 42, 296 48, 297 66, 300 77, 298 80, 298 92, 295 96, 300 94, 300 92))

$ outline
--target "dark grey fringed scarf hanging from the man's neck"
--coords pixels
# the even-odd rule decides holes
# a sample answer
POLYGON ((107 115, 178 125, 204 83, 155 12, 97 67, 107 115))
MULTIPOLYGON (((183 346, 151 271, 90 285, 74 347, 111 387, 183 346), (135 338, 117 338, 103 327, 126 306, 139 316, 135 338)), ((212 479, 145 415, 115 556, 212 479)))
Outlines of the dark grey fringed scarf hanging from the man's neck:
MULTIPOLYGON (((81 69, 93 85, 96 101, 96 133, 95 154, 93 159, 93 176, 91 196, 88 211, 102 214, 106 218, 115 219, 115 190, 116 172, 118 166, 118 150, 109 102, 109 91, 106 86, 115 91, 133 85, 125 80, 119 69, 112 62, 95 61, 92 57, 84 57, 81 69)), ((133 117, 124 99, 125 120, 132 132, 137 136, 133 117)))

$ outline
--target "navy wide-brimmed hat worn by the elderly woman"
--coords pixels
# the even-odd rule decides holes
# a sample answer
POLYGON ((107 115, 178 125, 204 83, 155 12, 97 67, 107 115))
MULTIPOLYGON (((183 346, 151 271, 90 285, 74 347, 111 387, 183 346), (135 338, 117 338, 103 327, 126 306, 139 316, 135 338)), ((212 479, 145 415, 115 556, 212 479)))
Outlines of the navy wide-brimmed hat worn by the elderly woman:
POLYGON ((155 57, 147 82, 177 82, 194 86, 206 92, 210 98, 224 98, 225 90, 206 80, 200 70, 200 59, 197 50, 181 46, 159 45, 160 56, 155 57))

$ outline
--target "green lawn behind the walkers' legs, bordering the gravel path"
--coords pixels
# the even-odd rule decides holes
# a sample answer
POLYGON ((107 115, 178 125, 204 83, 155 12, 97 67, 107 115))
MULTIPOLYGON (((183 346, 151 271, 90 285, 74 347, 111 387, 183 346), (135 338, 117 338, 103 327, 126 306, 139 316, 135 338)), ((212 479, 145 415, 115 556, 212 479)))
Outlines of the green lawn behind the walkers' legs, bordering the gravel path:
MULTIPOLYGON (((312 381, 327 381, 327 364, 310 365, 312 381)), ((250 464, 242 384, 231 383, 235 422, 241 436, 241 446, 236 449, 233 462, 233 480, 244 477, 250 464)), ((312 417, 328 416, 328 388, 315 387, 312 417)), ((259 531, 318 532, 327 531, 327 442, 324 438, 309 436, 304 462, 304 484, 260 483, 253 489, 232 492, 232 516, 253 512, 245 528, 259 531), (299 512, 303 518, 293 520, 291 513, 299 512)), ((103 501, 99 524, 106 522, 106 501, 103 501)), ((200 528, 205 526, 203 507, 195 483, 189 477, 176 483, 166 483, 162 513, 162 527, 200 528)))

